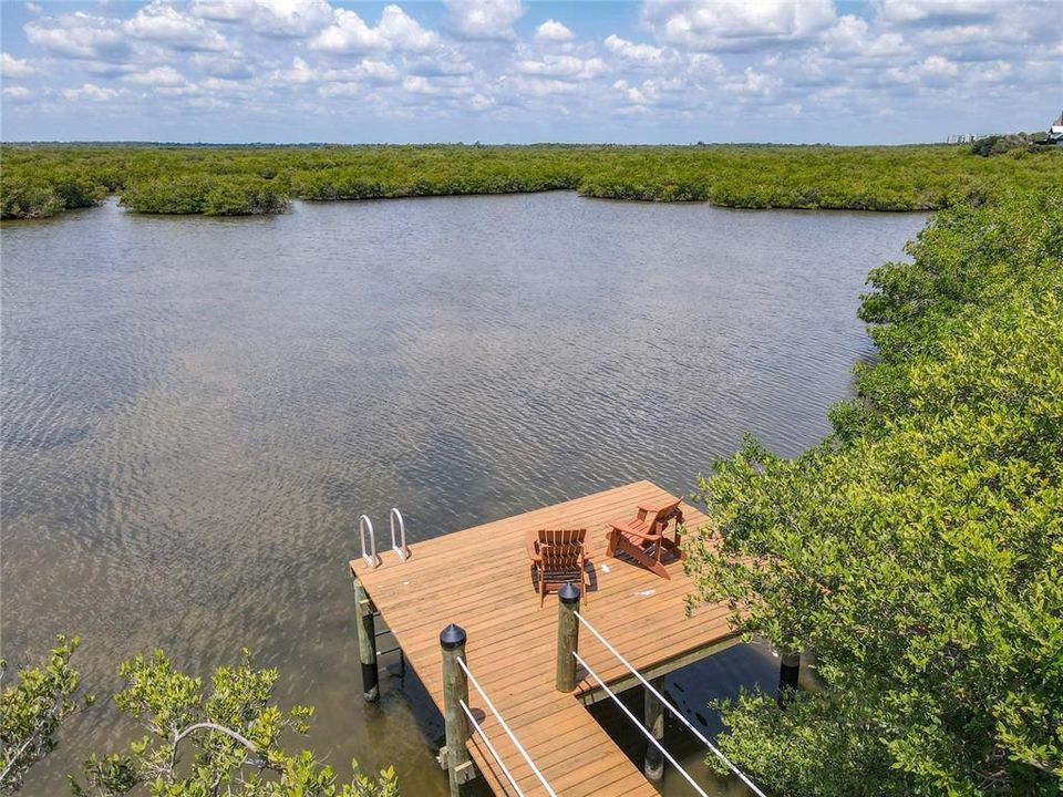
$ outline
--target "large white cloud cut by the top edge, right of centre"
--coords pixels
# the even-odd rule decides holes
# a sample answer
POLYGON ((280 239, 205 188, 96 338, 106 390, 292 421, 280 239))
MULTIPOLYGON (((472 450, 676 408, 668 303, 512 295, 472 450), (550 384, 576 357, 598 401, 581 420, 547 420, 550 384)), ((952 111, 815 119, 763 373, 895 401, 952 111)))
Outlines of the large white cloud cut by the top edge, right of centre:
POLYGON ((661 40, 693 50, 745 51, 807 39, 835 21, 832 0, 682 0, 646 3, 661 40))

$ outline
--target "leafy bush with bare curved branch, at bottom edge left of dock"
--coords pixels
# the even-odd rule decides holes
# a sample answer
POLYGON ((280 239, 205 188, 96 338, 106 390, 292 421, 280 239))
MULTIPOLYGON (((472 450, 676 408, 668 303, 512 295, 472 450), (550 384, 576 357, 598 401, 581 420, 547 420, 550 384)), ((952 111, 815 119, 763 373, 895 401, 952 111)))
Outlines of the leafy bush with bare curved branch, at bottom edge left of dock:
POLYGON ((286 752, 281 737, 306 734, 313 710, 274 705, 277 671, 256 669, 246 650, 240 664, 215 671, 207 694, 200 679, 176 670, 158 650, 118 672, 125 687, 115 705, 146 735, 128 753, 90 757, 83 783, 71 778, 75 795, 399 797, 392 769, 371 778, 352 762, 352 780, 338 784, 310 752, 286 752))

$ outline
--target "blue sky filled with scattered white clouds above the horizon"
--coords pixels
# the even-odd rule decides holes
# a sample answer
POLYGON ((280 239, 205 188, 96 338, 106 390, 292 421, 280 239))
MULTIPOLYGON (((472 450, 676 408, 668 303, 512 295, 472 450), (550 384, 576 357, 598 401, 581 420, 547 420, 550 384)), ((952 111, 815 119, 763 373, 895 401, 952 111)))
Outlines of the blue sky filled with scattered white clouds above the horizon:
POLYGON ((942 141, 1044 130, 1063 2, 13 2, 4 141, 942 141))

